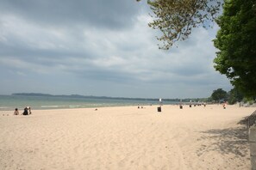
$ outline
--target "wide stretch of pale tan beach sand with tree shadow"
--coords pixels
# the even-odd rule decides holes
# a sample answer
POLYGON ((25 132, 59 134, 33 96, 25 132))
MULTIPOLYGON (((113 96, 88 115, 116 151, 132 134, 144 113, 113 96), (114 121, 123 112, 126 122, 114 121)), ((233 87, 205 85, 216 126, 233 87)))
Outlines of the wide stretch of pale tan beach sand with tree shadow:
POLYGON ((250 169, 247 127, 238 122, 254 111, 239 106, 33 110, 29 116, 2 111, 0 169, 250 169))

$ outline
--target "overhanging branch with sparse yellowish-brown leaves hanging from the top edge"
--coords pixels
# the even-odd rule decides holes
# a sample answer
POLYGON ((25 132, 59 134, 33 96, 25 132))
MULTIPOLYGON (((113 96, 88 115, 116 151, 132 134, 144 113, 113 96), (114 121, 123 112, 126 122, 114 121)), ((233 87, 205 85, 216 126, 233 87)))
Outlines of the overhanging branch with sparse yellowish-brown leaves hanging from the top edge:
POLYGON ((176 41, 187 39, 194 27, 209 27, 209 21, 215 20, 221 2, 222 0, 147 0, 154 14, 153 21, 148 25, 163 33, 158 38, 162 42, 159 48, 168 50, 176 41))

